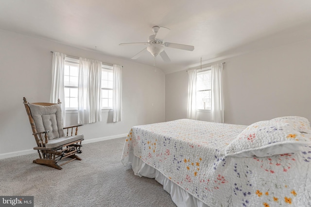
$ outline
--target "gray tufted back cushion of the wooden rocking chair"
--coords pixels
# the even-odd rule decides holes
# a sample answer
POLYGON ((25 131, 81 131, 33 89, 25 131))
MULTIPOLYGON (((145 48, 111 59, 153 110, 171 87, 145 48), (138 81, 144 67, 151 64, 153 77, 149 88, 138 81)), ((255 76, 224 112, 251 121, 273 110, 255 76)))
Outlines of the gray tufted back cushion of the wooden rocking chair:
POLYGON ((50 131, 49 140, 65 136, 60 104, 51 106, 29 104, 29 108, 38 132, 50 131))

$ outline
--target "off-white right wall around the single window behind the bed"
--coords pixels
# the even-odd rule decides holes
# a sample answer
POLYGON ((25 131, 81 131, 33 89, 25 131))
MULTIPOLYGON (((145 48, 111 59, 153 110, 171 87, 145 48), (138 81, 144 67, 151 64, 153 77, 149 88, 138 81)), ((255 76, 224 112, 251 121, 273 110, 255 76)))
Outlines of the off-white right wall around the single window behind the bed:
MULTIPOLYGON (((310 57, 311 40, 221 61, 225 123, 250 125, 287 115, 311 121, 310 57)), ((186 118, 188 74, 167 74, 166 84, 165 119, 186 118)))

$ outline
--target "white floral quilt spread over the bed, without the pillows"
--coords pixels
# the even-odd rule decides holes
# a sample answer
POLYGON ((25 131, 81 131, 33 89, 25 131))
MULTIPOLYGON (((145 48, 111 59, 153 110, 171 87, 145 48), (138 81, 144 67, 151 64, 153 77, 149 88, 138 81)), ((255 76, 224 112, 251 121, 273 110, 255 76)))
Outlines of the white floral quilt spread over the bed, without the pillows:
POLYGON ((181 119, 132 127, 130 152, 211 207, 311 206, 311 146, 270 157, 226 157, 247 126, 181 119))

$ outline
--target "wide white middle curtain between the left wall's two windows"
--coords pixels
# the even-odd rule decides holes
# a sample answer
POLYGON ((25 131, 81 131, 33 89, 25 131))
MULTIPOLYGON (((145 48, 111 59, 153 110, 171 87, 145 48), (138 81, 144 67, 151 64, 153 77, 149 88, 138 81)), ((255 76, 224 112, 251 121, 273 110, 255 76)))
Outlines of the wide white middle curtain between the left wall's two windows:
POLYGON ((102 63, 80 58, 78 84, 78 123, 102 121, 102 63))

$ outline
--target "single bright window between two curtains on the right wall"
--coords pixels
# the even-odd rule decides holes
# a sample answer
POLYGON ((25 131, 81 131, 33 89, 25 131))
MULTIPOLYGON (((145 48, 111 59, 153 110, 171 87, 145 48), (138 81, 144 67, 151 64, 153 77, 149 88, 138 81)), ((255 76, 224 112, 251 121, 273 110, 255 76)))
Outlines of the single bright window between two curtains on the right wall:
POLYGON ((197 71, 197 109, 210 110, 211 107, 211 70, 210 67, 197 71))

